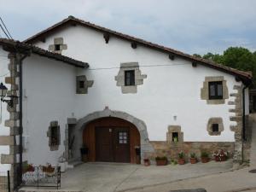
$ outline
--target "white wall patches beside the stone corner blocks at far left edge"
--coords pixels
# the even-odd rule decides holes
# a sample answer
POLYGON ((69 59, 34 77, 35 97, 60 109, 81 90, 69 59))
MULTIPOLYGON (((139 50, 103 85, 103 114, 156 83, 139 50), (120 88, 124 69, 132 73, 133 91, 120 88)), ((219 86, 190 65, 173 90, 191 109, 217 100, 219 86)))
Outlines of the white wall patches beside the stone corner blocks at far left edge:
MULTIPOLYGON (((2 46, 0 46, 0 83, 3 82, 6 76, 9 76, 8 70, 8 52, 4 51, 2 46)), ((8 88, 9 85, 5 84, 8 88)), ((1 103, 0 103, 0 116, 1 116, 1 103)), ((8 136, 9 128, 4 126, 4 121, 9 119, 9 113, 6 109, 6 103, 2 103, 2 120, 0 117, 0 136, 8 136)), ((7 170, 9 170, 9 165, 1 164, 1 154, 9 154, 9 146, 0 146, 0 175, 5 175, 7 170)))

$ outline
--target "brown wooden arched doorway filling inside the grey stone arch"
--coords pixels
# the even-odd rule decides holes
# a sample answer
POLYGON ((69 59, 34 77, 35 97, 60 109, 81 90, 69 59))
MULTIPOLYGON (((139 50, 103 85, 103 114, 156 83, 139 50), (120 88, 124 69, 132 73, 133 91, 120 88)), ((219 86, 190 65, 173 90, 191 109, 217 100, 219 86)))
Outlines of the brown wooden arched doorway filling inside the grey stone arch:
POLYGON ((140 141, 137 127, 125 119, 104 117, 84 125, 83 143, 90 161, 139 163, 140 141))

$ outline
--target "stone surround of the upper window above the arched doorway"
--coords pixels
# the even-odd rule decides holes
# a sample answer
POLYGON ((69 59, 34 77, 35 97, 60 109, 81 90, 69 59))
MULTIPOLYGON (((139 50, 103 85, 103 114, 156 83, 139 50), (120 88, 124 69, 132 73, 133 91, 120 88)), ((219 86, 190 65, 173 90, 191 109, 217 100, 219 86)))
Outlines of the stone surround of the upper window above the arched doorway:
POLYGON ((147 79, 146 74, 142 74, 138 62, 125 62, 120 64, 119 73, 114 77, 116 85, 121 87, 122 93, 137 93, 137 85, 143 84, 143 79, 147 79), (125 71, 134 70, 134 85, 125 85, 125 71))

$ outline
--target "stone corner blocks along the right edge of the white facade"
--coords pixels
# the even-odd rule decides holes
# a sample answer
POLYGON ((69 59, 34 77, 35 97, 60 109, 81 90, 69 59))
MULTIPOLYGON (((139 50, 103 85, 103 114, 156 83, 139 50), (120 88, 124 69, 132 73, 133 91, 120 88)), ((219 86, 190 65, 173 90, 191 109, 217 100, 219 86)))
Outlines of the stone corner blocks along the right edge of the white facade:
POLYGON ((230 125, 230 130, 235 132, 235 152, 234 152, 234 162, 236 164, 242 163, 242 88, 239 85, 234 85, 233 88, 236 92, 230 93, 230 96, 235 97, 234 102, 229 102, 230 106, 235 108, 230 108, 230 121, 235 121, 236 125, 230 125))

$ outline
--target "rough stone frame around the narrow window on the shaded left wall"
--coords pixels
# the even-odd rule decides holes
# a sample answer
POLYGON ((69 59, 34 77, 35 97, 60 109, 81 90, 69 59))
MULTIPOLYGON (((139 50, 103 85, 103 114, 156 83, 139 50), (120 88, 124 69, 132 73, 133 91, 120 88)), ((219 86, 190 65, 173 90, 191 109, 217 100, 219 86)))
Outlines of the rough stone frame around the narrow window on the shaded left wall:
POLYGON ((61 128, 60 128, 60 125, 58 125, 58 121, 51 121, 49 123, 49 128, 48 128, 48 131, 47 131, 47 137, 49 137, 49 149, 51 151, 56 151, 59 149, 59 146, 61 144, 61 128), (57 134, 57 141, 55 142, 55 144, 53 144, 52 142, 52 136, 51 136, 51 133, 52 133, 52 129, 55 128, 56 129, 56 134, 57 134))

